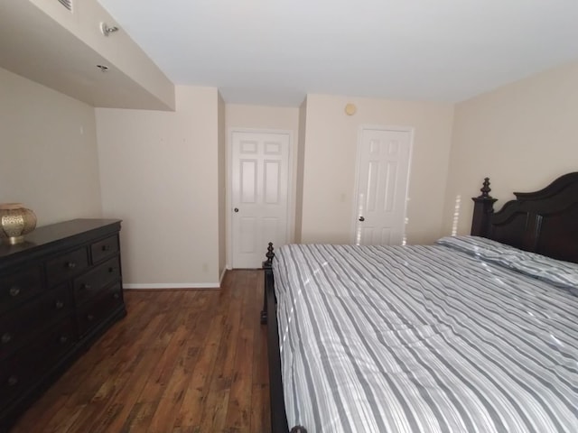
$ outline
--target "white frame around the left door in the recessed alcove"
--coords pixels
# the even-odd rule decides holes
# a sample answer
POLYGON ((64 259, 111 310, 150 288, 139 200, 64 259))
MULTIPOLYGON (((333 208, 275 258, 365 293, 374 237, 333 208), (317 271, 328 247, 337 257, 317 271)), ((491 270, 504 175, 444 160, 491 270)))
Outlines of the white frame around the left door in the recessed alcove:
MULTIPOLYGON (((225 217, 225 225, 227 226, 227 265, 228 270, 233 269, 233 219, 231 212, 233 210, 233 134, 235 133, 249 133, 249 134, 284 134, 289 137, 289 149, 287 150, 287 242, 293 242, 295 232, 295 197, 294 197, 294 132, 289 129, 267 129, 267 128, 243 128, 231 127, 228 128, 227 134, 227 189, 225 191, 227 211, 225 217)), ((280 245, 276 245, 280 246, 280 245)), ((265 262, 266 247, 263 245, 263 261, 265 262)))

